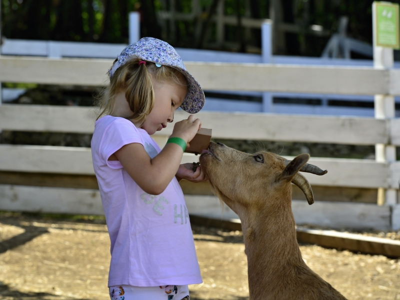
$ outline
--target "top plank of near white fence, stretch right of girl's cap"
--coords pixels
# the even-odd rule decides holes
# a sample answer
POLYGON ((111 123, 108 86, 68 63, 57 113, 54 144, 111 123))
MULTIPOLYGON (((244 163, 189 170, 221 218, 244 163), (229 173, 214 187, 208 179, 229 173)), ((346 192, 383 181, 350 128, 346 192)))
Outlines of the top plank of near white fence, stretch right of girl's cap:
MULTIPOLYGON (((369 67, 186 62, 207 90, 387 94, 389 72, 369 67), (288 84, 288 82, 290 82, 288 84), (383 92, 384 91, 384 92, 383 92)), ((397 90, 393 90, 397 92, 397 90)))

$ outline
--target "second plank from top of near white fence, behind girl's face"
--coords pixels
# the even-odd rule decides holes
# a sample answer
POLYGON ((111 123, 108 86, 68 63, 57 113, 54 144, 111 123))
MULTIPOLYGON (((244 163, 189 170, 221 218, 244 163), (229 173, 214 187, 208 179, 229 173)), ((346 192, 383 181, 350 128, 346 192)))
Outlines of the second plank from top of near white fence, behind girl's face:
MULTIPOLYGON (((3 104, 0 106, 0 128, 92 133, 95 115, 93 107, 3 104)), ((188 115, 177 111, 174 122, 188 115)), ((199 112, 196 116, 203 127, 213 129, 214 138, 362 145, 389 142, 388 120, 384 119, 220 112, 199 112)), ((154 136, 169 136, 173 125, 168 124, 154 136)), ((398 140, 400 142, 400 138, 398 140)))

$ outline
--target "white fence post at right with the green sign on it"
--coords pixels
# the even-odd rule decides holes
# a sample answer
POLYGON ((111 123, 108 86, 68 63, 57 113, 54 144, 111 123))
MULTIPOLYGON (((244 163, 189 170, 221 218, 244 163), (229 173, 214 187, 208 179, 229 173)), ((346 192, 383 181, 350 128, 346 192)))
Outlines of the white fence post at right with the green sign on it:
MULTIPOLYGON (((372 38, 373 38, 373 67, 377 69, 393 68, 393 49, 378 46, 376 43, 376 6, 372 4, 372 38)), ((374 96, 375 118, 394 118, 394 96, 390 94, 376 94, 374 96)), ((378 162, 393 162, 396 160, 396 147, 394 145, 375 144, 375 160, 378 162)), ((378 188, 378 205, 395 205, 397 203, 397 190, 394 188, 378 188)))

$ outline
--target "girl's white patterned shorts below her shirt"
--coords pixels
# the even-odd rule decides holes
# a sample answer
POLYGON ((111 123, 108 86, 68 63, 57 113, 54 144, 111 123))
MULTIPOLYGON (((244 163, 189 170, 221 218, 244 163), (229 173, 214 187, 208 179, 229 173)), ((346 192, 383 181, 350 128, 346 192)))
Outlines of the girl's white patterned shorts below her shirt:
POLYGON ((187 285, 114 285, 109 287, 109 296, 111 300, 190 300, 187 285))

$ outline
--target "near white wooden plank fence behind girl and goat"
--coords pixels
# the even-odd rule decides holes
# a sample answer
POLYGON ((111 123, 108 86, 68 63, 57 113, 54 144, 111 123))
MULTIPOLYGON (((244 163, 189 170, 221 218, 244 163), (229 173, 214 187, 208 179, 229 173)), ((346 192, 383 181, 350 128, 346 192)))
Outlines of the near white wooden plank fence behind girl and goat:
MULTIPOLYGON (((112 59, 0 57, 0 81, 48 84, 101 85, 112 59)), ((288 66, 257 63, 185 62, 204 89, 270 90, 282 92, 400 95, 400 70, 347 66, 288 66)), ((176 112, 175 121, 187 117, 176 112)), ((265 113, 199 112, 204 127, 215 138, 304 141, 355 145, 400 145, 400 119, 299 116, 265 113)), ((91 107, 3 104, 0 130, 91 133, 91 107)), ((172 125, 155 136, 162 146, 172 125)), ((197 156, 185 154, 182 161, 197 156)), ((400 162, 366 159, 314 158, 326 168, 324 176, 305 174, 313 186, 385 188, 398 191, 400 162)), ((89 148, 0 144, 0 172, 92 175, 89 148)), ((221 217, 212 196, 186 195, 192 214, 221 217)), ((366 203, 318 202, 308 206, 293 200, 298 223, 333 227, 400 228, 397 200, 377 206, 366 203)), ((0 184, 0 209, 101 214, 98 190, 0 184)), ((235 217, 226 207, 223 217, 235 217)))

